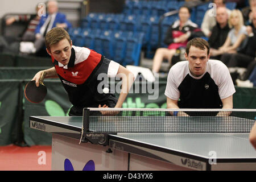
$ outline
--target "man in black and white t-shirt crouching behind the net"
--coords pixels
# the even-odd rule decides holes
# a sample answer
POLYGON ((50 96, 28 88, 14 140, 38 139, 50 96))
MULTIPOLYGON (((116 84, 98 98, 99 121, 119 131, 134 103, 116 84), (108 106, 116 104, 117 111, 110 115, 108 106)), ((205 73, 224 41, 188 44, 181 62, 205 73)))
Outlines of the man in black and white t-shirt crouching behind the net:
POLYGON ((209 44, 201 38, 188 42, 187 61, 176 63, 168 74, 167 108, 232 109, 236 92, 225 64, 209 60, 209 44))

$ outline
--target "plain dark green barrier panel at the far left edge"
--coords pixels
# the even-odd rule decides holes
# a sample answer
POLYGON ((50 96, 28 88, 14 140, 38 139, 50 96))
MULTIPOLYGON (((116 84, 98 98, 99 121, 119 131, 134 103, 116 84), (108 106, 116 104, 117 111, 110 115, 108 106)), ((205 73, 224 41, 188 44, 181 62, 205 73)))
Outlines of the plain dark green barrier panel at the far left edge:
POLYGON ((18 140, 20 83, 19 80, 0 80, 0 146, 18 140))

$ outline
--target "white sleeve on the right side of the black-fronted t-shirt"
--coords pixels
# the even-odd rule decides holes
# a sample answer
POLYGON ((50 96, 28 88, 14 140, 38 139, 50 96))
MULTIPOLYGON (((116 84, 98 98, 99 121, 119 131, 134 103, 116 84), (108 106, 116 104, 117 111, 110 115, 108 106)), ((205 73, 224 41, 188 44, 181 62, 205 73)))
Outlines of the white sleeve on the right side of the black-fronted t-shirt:
POLYGON ((224 99, 232 96, 236 92, 236 89, 234 88, 229 69, 226 67, 226 65, 223 64, 223 66, 220 67, 219 73, 220 77, 218 79, 218 94, 220 95, 221 99, 224 99))

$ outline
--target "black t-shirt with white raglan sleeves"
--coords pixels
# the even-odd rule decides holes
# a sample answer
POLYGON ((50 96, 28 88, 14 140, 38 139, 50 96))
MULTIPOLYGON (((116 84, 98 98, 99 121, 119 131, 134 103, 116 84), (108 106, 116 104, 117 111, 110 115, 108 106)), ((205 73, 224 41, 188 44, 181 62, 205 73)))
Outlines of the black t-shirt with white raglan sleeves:
POLYGON ((203 75, 195 77, 188 61, 176 63, 168 73, 165 95, 179 100, 180 108, 222 108, 221 100, 236 92, 228 67, 218 60, 208 60, 203 75))

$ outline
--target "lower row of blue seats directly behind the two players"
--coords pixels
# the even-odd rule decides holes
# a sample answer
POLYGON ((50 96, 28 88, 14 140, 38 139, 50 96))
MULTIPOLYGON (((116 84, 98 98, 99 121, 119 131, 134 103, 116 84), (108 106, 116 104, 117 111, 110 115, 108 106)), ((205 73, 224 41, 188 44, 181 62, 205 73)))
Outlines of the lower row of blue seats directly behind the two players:
POLYGON ((142 32, 112 31, 90 28, 69 30, 74 46, 88 47, 122 65, 139 65, 142 32))

